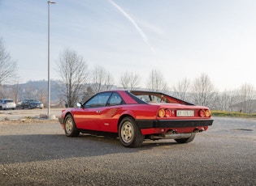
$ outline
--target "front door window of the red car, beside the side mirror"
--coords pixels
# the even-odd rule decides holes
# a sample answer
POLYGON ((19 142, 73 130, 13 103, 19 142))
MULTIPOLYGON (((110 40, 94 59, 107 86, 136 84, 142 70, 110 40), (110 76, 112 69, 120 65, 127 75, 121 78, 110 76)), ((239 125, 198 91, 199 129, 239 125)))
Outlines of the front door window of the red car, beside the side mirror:
POLYGON ((85 108, 99 108, 106 106, 106 102, 111 96, 111 92, 103 92, 98 95, 95 95, 92 99, 89 99, 85 103, 85 108))

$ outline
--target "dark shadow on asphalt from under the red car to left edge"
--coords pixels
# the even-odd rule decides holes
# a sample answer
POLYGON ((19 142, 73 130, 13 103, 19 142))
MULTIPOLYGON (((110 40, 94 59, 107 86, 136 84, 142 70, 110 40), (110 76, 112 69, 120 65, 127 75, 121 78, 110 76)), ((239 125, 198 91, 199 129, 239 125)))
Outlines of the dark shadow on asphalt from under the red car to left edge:
POLYGON ((87 134, 79 137, 66 137, 62 134, 0 136, 0 164, 126 154, 174 145, 177 143, 145 141, 140 147, 126 148, 116 137, 87 134))

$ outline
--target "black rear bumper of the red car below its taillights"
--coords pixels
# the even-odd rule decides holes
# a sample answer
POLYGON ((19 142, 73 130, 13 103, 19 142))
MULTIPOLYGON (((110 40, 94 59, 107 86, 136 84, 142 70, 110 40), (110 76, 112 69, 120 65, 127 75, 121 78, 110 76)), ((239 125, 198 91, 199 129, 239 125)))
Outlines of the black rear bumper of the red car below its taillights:
POLYGON ((188 128, 212 125, 214 120, 136 120, 140 129, 188 128))

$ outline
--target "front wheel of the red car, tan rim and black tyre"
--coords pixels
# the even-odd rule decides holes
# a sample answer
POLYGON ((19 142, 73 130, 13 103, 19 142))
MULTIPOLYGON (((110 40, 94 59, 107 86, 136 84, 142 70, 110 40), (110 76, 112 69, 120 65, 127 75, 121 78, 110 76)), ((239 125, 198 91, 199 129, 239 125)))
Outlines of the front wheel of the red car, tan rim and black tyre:
POLYGON ((64 120, 64 129, 67 137, 78 137, 80 131, 76 129, 75 121, 73 117, 68 114, 64 120))

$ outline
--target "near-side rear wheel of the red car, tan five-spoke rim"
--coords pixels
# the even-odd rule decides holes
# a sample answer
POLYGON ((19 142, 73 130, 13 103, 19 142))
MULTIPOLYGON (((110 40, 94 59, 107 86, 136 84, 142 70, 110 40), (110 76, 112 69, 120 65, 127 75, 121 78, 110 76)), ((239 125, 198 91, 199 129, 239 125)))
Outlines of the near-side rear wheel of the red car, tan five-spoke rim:
POLYGON ((124 117, 119 124, 119 141, 126 147, 141 146, 144 136, 132 117, 124 117))

